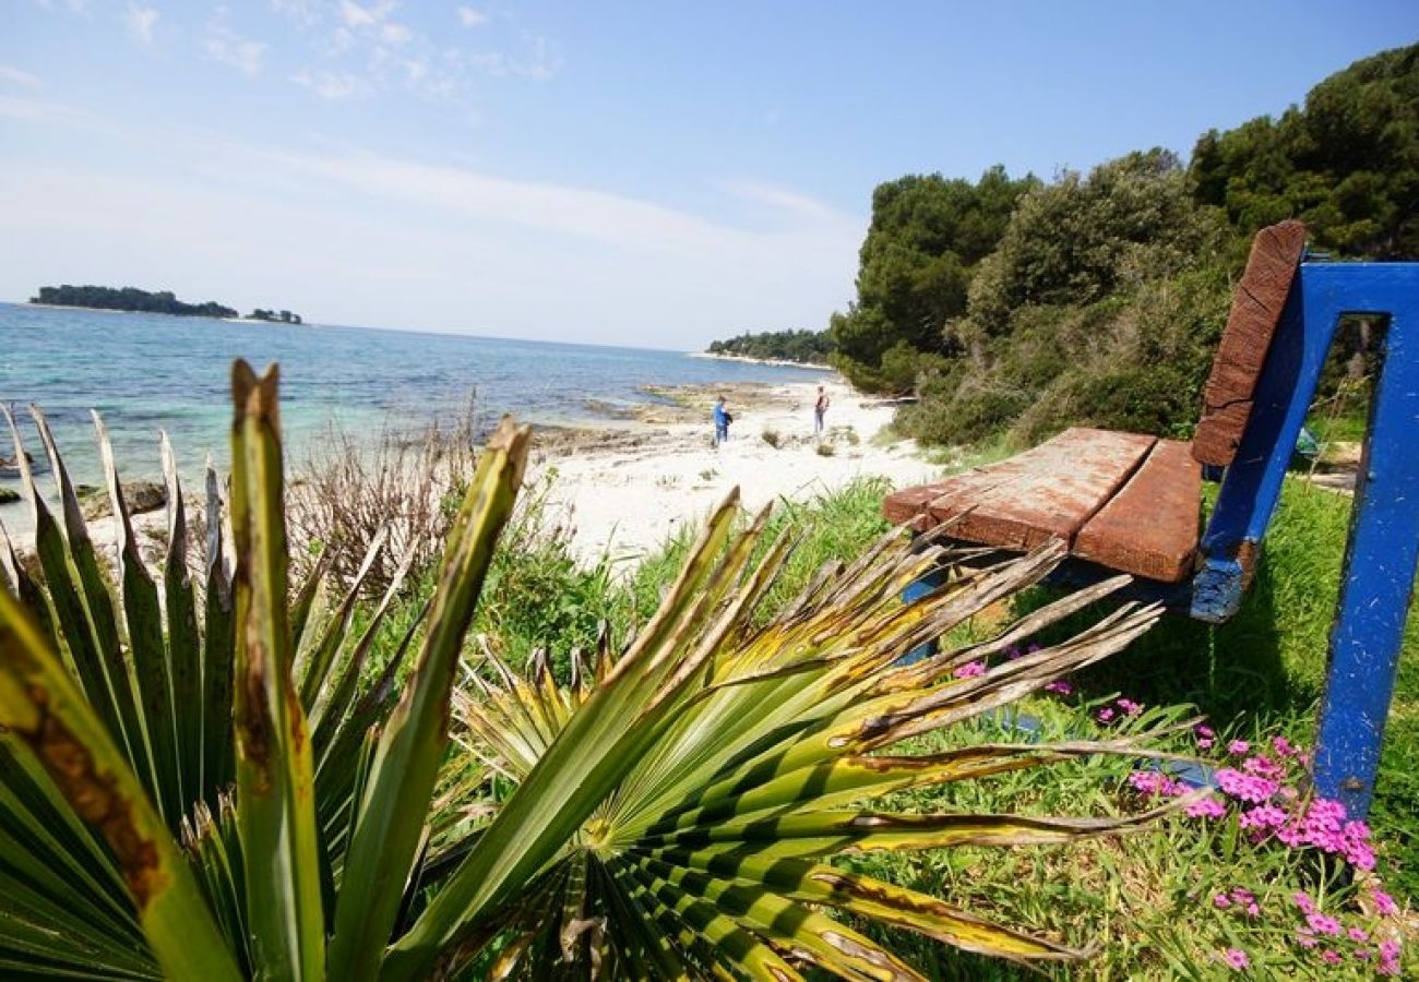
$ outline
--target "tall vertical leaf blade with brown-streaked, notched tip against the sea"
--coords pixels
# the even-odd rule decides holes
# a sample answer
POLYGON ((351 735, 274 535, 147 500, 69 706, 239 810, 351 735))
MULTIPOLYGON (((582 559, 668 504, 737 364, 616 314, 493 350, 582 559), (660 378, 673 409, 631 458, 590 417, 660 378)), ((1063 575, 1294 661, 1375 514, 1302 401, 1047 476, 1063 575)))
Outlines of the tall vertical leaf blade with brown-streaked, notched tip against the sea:
POLYGON ((236 538, 237 809, 254 969, 325 973, 322 850, 305 714, 291 678, 278 370, 233 368, 231 518, 236 538))

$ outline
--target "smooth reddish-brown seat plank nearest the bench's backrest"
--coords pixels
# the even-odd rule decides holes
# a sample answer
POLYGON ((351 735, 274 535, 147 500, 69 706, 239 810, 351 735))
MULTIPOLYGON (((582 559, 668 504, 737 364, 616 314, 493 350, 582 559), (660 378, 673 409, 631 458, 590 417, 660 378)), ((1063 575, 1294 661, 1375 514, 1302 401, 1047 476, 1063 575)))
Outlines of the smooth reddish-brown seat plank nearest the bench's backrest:
POLYGON ((1202 465, 1159 440, 1148 460, 1074 536, 1073 553, 1135 576, 1181 583, 1198 555, 1202 465))

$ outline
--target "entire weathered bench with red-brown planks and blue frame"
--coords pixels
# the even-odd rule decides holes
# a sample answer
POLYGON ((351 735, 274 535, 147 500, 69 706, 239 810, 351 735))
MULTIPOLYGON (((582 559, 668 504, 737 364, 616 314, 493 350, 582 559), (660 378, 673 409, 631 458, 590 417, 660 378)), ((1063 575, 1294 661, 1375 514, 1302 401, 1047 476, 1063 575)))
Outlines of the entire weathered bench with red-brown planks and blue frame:
POLYGON ((883 508, 918 531, 951 521, 951 535, 990 546, 1061 538, 1090 569, 1166 586, 1193 617, 1223 622, 1254 572, 1340 322, 1385 321, 1314 758, 1315 792, 1362 817, 1419 566, 1419 263, 1330 263, 1305 255, 1304 240, 1296 221, 1257 234, 1191 446, 1066 430, 883 508), (1199 538, 1202 465, 1222 471, 1222 487, 1199 538))

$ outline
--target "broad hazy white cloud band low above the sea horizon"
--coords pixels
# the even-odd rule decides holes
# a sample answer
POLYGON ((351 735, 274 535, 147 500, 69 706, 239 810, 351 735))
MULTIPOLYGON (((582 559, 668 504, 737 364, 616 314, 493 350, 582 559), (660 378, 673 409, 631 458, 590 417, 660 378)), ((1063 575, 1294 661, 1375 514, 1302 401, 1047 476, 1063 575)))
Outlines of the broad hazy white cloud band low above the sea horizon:
POLYGON ((763 220, 755 184, 742 186, 746 227, 353 150, 292 155, 162 129, 119 138, 155 148, 163 169, 133 179, 78 159, 0 159, 0 186, 18 192, 4 204, 14 234, 0 238, 0 295, 75 267, 115 282, 156 270, 194 295, 281 297, 325 322, 562 341, 575 325, 590 342, 688 351, 745 328, 823 324, 851 291, 866 226, 789 189, 763 196, 763 220), (159 156, 175 145, 183 155, 159 156), (339 194, 302 193, 331 187, 339 194))

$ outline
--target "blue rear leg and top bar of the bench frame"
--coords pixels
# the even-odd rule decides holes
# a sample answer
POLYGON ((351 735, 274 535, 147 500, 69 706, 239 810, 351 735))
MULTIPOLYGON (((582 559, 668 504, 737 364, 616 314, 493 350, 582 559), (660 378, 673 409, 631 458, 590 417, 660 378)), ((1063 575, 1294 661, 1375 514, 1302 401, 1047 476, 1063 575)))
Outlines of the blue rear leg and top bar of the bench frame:
POLYGON ((1310 316, 1388 314, 1315 741, 1315 792, 1369 812, 1419 563, 1419 264, 1303 267, 1310 316))

